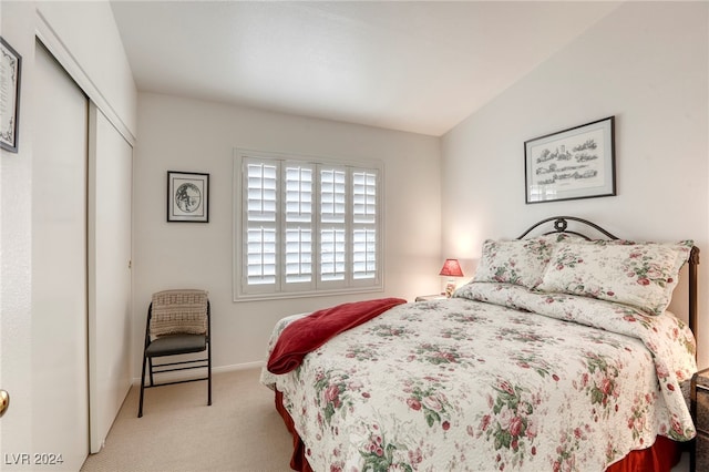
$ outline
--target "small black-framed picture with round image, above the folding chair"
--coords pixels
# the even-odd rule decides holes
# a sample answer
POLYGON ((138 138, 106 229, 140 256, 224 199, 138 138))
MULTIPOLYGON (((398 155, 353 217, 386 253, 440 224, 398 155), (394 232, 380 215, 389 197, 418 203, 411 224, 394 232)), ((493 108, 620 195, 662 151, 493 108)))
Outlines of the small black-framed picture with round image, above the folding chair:
POLYGON ((209 223, 209 174, 167 171, 167 220, 209 223))

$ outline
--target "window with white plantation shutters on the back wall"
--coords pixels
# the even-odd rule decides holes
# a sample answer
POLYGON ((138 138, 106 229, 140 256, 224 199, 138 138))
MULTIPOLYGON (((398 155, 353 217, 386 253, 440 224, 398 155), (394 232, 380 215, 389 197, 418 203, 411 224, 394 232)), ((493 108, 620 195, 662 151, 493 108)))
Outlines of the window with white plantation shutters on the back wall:
POLYGON ((235 299, 381 290, 380 167, 237 150, 235 299))

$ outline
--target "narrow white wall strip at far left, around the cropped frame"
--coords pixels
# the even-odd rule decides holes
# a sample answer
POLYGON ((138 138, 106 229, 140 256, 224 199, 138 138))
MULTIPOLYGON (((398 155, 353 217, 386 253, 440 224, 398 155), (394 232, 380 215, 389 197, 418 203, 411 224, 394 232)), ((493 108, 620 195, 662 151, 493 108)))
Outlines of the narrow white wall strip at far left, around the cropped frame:
POLYGON ((2 38, 22 55, 18 153, 0 150, 0 388, 11 407, 0 421, 0 450, 25 450, 32 441, 32 110, 34 10, 30 2, 0 3, 2 38), (10 20, 12 19, 12 21, 10 20))

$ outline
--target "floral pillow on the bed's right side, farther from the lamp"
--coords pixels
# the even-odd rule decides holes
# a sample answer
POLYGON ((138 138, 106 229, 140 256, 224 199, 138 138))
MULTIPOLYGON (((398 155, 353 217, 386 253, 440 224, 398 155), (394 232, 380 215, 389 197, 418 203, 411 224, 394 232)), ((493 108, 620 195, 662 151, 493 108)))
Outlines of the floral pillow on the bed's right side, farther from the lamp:
POLYGON ((562 243, 556 245, 537 289, 616 301, 660 315, 670 302, 692 245, 690 240, 562 243))

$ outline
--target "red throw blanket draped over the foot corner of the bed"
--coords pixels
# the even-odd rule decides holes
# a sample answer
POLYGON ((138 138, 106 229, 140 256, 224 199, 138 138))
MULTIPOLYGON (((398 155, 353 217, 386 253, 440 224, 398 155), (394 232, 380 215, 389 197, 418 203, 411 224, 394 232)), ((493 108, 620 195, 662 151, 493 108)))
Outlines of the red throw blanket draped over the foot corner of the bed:
POLYGON ((267 368, 273 373, 290 372, 300 366, 308 352, 325 345, 329 339, 405 302, 407 300, 401 298, 354 301, 300 318, 282 330, 270 353, 267 368))

